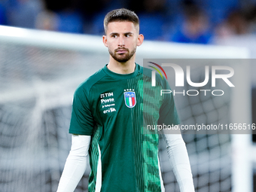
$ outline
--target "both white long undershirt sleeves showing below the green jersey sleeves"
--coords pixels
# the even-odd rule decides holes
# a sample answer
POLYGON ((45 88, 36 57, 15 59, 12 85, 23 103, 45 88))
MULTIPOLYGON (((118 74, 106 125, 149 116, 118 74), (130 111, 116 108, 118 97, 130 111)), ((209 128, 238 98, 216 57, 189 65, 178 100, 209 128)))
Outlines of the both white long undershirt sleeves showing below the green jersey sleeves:
MULTIPOLYGON (((181 134, 163 134, 172 170, 181 192, 194 192, 194 183, 187 155, 187 149, 181 134)), ((66 160, 57 192, 72 192, 84 175, 87 166, 87 154, 90 136, 72 135, 72 148, 66 160)))

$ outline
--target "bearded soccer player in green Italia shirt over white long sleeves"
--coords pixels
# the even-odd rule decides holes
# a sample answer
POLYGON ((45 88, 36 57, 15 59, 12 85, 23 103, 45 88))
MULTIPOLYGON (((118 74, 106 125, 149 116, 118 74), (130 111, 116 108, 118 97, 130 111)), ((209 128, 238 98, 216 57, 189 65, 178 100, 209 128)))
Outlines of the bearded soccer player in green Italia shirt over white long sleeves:
MULTIPOLYGON (((139 18, 133 11, 118 9, 104 20, 103 43, 110 59, 75 91, 69 133, 72 148, 57 192, 75 190, 90 157, 88 191, 163 192, 158 160, 157 130, 148 125, 178 125, 178 114, 166 79, 135 62, 136 47, 143 42, 139 18)), ((187 150, 181 134, 163 134, 170 166, 181 192, 193 192, 187 150)))

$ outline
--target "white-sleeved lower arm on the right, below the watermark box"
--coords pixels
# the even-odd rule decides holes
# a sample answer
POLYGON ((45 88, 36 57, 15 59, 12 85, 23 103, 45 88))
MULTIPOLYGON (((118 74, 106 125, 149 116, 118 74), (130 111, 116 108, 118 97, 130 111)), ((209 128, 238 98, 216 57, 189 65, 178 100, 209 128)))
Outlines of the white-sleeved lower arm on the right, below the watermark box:
POLYGON ((181 134, 163 134, 172 171, 181 192, 194 192, 194 182, 190 169, 187 148, 181 134))

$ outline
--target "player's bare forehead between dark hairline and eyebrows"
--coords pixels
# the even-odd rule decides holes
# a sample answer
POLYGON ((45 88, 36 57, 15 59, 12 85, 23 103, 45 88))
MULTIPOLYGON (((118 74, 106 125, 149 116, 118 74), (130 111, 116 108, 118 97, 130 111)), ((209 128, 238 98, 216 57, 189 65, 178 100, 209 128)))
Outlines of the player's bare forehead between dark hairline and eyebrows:
POLYGON ((130 21, 113 21, 108 23, 106 32, 107 34, 127 32, 136 33, 138 32, 138 26, 130 21))

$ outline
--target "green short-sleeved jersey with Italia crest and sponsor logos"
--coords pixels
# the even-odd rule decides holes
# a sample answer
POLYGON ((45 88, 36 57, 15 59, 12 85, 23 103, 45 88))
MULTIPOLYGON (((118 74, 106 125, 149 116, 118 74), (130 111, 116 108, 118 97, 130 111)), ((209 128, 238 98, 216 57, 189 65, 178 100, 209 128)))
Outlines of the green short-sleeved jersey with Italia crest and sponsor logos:
POLYGON ((102 192, 161 191, 159 135, 145 131, 147 125, 179 120, 172 94, 161 96, 160 90, 170 90, 166 79, 157 76, 151 87, 151 70, 136 64, 128 75, 105 66, 75 91, 69 133, 92 136, 90 192, 96 191, 99 172, 102 192))

